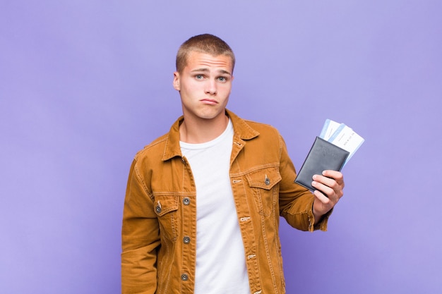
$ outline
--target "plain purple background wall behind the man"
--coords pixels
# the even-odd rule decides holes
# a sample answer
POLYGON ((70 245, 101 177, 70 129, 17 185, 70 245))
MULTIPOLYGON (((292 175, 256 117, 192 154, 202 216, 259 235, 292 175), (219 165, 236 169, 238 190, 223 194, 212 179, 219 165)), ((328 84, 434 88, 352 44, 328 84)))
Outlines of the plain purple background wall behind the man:
POLYGON ((133 155, 181 114, 174 58, 237 55, 229 109, 299 169, 325 118, 366 142, 327 233, 281 221, 287 293, 441 293, 441 1, 0 1, 0 292, 119 293, 133 155))

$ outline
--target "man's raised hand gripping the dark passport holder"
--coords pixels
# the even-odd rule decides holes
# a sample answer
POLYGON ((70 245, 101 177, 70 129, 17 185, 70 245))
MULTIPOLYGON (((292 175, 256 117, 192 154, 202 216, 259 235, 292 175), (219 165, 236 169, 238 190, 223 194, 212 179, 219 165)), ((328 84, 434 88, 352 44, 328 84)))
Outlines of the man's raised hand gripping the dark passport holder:
POLYGON ((313 192, 316 197, 313 202, 313 215, 317 223, 321 220, 321 216, 335 207, 336 203, 344 195, 342 191, 344 188, 344 176, 342 176, 340 171, 323 171, 322 176, 313 176, 311 185, 316 189, 313 192))

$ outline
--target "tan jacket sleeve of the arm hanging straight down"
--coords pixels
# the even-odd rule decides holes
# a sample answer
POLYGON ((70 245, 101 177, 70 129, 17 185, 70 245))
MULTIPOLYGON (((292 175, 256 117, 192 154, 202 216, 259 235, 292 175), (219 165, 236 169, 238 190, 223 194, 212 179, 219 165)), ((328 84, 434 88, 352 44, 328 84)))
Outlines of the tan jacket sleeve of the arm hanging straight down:
POLYGON ((121 293, 154 294, 160 234, 152 193, 133 161, 124 200, 121 232, 121 293))

